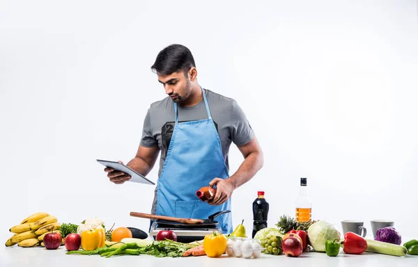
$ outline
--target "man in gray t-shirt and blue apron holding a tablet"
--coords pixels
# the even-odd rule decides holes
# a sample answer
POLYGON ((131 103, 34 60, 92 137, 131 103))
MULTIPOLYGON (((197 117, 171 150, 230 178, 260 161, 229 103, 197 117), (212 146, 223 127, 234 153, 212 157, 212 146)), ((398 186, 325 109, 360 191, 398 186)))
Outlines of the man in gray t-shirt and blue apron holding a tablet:
MULTIPOLYGON (((199 86, 194 58, 183 45, 164 48, 151 69, 169 97, 151 104, 137 156, 127 163, 145 176, 161 151, 151 213, 208 218, 217 211, 231 209, 233 191, 263 166, 263 153, 245 114, 235 100, 199 86), (245 160, 229 177, 231 142, 245 160), (216 186, 215 197, 208 203, 201 202, 196 191, 208 185, 216 186)), ((130 179, 124 172, 111 168, 104 171, 109 172, 107 176, 115 184, 130 179)), ((231 213, 218 218, 222 232, 231 233, 231 213)))

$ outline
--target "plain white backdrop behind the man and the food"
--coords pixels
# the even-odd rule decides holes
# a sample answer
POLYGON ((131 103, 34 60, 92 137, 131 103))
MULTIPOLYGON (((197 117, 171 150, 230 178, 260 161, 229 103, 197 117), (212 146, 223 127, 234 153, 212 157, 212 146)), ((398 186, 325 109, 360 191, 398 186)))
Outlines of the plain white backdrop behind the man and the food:
MULTIPOLYGON (((416 1, 0 1, 0 236, 36 211, 148 229, 153 186, 112 184, 95 159, 129 161, 169 44, 198 81, 245 111, 265 153, 233 193, 234 227, 265 191, 268 223, 295 215, 395 220, 417 236, 416 1)), ((231 147, 231 173, 242 156, 231 147)), ((157 165, 148 177, 157 181, 157 165)))

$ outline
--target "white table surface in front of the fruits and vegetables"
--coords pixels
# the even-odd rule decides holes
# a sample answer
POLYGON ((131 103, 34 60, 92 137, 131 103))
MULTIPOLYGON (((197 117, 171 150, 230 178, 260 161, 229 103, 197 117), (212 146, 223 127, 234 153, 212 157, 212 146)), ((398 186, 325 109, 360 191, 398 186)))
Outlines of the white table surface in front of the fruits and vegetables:
POLYGON ((58 250, 46 250, 42 247, 20 248, 17 245, 0 249, 0 266, 208 266, 208 267, 246 267, 246 266, 418 266, 418 256, 394 257, 383 254, 367 253, 360 255, 345 254, 343 250, 337 257, 328 257, 325 253, 307 252, 292 258, 261 254, 258 259, 228 257, 220 258, 186 257, 157 258, 149 255, 123 255, 104 258, 100 255, 67 255, 64 246, 58 250))

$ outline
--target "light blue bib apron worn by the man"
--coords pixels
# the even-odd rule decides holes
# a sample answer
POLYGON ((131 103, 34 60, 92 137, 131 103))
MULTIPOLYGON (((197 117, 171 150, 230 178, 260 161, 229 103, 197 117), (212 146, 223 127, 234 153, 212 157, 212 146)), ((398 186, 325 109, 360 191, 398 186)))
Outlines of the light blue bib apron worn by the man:
MULTIPOLYGON (((213 206, 196 197, 196 191, 208 186, 215 177, 229 178, 221 140, 203 88, 202 93, 208 112, 207 120, 178 122, 177 103, 174 103, 176 124, 157 182, 157 215, 206 219, 217 211, 231 210, 231 198, 224 204, 213 206)), ((215 220, 224 234, 232 232, 231 213, 225 213, 215 220)))

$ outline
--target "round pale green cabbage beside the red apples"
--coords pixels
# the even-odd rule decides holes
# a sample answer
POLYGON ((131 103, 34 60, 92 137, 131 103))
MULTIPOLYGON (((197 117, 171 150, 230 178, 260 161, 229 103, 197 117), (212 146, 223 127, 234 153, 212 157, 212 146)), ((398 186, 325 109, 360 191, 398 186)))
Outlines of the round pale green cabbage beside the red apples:
POLYGON ((309 227, 308 238, 315 251, 325 252, 325 242, 335 239, 340 241, 341 235, 334 225, 320 220, 309 227))

